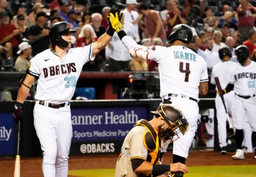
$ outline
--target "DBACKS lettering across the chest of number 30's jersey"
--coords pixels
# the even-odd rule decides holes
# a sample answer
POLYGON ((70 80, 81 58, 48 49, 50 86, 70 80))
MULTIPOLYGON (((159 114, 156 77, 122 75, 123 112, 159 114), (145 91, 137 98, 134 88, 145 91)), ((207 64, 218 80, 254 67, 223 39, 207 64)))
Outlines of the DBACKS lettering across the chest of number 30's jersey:
POLYGON ((66 63, 56 66, 50 66, 49 68, 44 68, 44 77, 59 75, 59 74, 69 74, 70 72, 76 72, 76 64, 75 63, 66 63))

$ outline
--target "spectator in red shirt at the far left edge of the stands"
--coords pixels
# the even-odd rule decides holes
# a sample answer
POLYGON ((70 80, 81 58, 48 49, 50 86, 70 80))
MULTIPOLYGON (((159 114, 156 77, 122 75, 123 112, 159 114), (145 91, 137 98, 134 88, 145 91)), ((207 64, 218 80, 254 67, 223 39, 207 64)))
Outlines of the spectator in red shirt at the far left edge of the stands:
POLYGON ((22 39, 21 31, 10 22, 9 15, 3 11, 0 13, 0 44, 10 51, 10 56, 17 53, 19 41, 22 39))

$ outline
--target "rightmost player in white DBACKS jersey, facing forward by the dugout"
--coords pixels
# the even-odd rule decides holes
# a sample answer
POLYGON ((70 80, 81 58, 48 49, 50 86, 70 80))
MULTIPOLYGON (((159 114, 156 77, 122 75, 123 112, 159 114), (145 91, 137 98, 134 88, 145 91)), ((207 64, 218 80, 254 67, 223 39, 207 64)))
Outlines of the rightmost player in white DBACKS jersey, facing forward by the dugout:
POLYGON ((244 139, 245 116, 252 129, 252 146, 254 148, 254 158, 256 158, 256 63, 249 58, 249 49, 240 45, 235 49, 237 64, 231 71, 229 83, 222 93, 225 94, 231 90, 235 92, 234 107, 232 116, 234 119, 236 154, 232 156, 234 160, 244 159, 244 150, 242 142, 244 139))

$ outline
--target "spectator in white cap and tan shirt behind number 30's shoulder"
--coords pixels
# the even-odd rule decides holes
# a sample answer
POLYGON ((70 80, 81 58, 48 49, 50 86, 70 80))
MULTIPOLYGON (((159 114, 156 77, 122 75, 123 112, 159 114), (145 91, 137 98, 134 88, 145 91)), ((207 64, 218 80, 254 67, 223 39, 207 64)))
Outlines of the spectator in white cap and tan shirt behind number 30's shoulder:
POLYGON ((26 71, 30 66, 29 60, 32 54, 31 45, 27 41, 20 43, 17 54, 19 56, 15 61, 14 68, 18 71, 26 71))

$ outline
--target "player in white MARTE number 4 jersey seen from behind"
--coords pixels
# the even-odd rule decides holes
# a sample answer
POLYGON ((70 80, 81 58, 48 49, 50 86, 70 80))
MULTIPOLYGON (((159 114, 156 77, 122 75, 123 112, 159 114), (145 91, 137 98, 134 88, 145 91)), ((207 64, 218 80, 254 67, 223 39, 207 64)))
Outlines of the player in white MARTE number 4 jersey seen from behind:
MULTIPOLYGON (((158 63, 161 98, 164 103, 179 107, 189 123, 188 132, 173 142, 173 163, 185 164, 197 129, 198 90, 201 95, 206 95, 209 80, 206 62, 187 47, 193 36, 192 30, 186 24, 178 24, 168 37, 171 47, 145 47, 125 34, 117 13, 110 13, 109 20, 132 56, 158 63)), ((183 173, 175 173, 175 176, 183 176, 183 173)))

